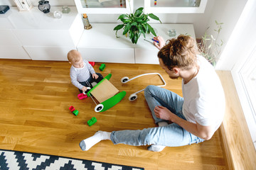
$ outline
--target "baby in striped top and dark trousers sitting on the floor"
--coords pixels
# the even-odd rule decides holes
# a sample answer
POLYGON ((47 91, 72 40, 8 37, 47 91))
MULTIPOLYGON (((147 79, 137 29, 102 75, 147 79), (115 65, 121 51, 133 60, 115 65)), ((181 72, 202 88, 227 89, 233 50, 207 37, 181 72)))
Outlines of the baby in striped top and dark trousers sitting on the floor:
POLYGON ((72 64, 70 67, 71 82, 80 93, 87 93, 90 89, 86 87, 90 86, 92 89, 92 82, 99 83, 103 79, 102 74, 96 73, 89 62, 82 60, 82 56, 77 50, 68 52, 68 61, 72 64))

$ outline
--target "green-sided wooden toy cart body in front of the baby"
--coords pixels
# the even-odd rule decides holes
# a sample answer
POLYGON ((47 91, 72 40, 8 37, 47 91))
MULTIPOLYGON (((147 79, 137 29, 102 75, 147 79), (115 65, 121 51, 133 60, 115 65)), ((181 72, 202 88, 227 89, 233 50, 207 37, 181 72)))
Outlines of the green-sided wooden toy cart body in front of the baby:
POLYGON ((98 104, 95 102, 95 112, 107 111, 109 108, 119 103, 126 95, 125 91, 119 92, 119 90, 110 83, 109 80, 111 76, 112 74, 108 74, 92 89, 87 87, 87 89, 90 89, 90 91, 87 92, 87 96, 90 96, 94 102, 93 97, 98 101, 98 104))

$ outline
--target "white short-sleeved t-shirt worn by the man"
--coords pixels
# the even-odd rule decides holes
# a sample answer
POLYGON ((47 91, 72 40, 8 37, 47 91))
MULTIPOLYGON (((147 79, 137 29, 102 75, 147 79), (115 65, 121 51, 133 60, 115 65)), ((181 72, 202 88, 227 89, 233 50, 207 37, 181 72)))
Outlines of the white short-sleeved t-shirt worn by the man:
POLYGON ((183 115, 192 123, 214 126, 218 130, 225 113, 225 95, 213 66, 201 55, 196 77, 187 84, 182 81, 183 115))

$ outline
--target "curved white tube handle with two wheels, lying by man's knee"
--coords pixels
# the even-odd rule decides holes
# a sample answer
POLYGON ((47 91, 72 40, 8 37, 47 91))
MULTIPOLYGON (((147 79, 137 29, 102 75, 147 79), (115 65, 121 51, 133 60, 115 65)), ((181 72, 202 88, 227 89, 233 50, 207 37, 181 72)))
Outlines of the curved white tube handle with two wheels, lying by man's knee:
MULTIPOLYGON (((166 81, 164 81, 164 78, 163 78, 163 77, 161 76, 161 74, 159 74, 159 73, 140 74, 139 76, 133 77, 132 79, 129 79, 129 77, 123 77, 123 78, 121 79, 121 82, 122 82, 122 84, 126 84, 127 82, 132 81, 133 79, 137 79, 138 77, 142 77, 142 76, 146 76, 146 75, 151 75, 151 74, 157 74, 157 75, 159 75, 159 77, 161 78, 161 81, 164 82, 163 85, 159 85, 159 86, 166 86, 166 81)), ((131 95, 129 96, 129 101, 135 101, 135 100, 137 99, 137 97, 138 97, 137 94, 139 94, 139 93, 142 92, 142 91, 144 91, 144 89, 142 89, 142 90, 140 90, 140 91, 137 91, 137 92, 135 92, 134 94, 131 94, 131 95)))

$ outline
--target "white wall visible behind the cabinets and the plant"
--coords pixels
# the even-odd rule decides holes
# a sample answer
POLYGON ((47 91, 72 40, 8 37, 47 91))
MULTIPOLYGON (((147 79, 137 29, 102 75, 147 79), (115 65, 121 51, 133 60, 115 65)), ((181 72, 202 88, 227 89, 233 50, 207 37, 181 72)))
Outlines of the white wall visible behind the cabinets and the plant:
MULTIPOLYGON (((39 0, 31 0, 34 6, 38 6, 39 0)), ((179 14, 156 14, 162 23, 193 23, 196 38, 201 38, 208 27, 208 20, 213 11, 215 0, 208 0, 205 13, 179 13, 179 14)), ((49 0, 51 6, 75 6, 73 0, 49 0)), ((0 0, 0 5, 16 6, 14 0, 0 0)), ((134 0, 134 9, 144 6, 144 0, 134 0)), ((90 23, 117 23, 119 14, 88 14, 90 23)), ((152 21, 151 23, 157 23, 152 21)))

